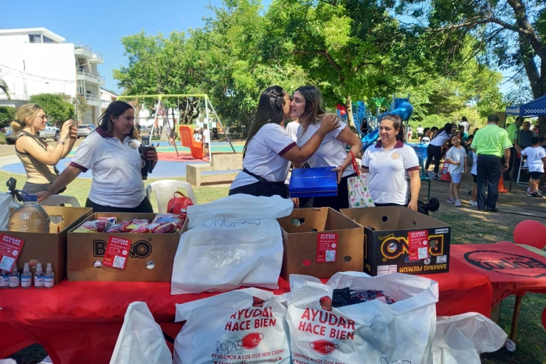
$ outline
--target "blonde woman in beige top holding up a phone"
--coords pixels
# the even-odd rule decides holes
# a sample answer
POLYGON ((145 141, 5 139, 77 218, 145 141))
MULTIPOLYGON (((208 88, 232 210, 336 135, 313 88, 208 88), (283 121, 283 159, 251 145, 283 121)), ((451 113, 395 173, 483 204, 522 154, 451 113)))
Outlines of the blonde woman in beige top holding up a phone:
POLYGON ((56 164, 68 156, 76 143, 76 128, 72 127, 71 120, 65 121, 61 127, 61 136, 56 146, 42 141, 36 133, 46 128, 46 122, 44 109, 36 103, 21 106, 16 120, 11 122, 11 128, 19 133, 15 141, 15 153, 25 168, 26 183, 23 191, 26 193, 34 194, 51 186, 59 175, 56 164), (66 143, 69 136, 69 142, 66 143))

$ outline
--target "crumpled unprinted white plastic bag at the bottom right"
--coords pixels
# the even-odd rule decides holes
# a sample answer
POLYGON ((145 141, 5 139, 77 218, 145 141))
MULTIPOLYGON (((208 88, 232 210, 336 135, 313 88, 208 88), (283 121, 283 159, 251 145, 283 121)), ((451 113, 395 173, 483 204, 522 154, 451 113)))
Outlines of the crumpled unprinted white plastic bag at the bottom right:
POLYGON ((434 364, 480 364, 480 353, 499 350, 506 338, 499 325, 480 313, 438 317, 434 364))

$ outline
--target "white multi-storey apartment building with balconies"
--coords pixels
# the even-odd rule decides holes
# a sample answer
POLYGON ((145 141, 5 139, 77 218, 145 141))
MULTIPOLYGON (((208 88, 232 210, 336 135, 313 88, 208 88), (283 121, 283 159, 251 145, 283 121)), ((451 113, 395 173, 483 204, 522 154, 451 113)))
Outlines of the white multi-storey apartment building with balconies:
POLYGON ((21 106, 37 93, 76 93, 89 108, 81 123, 96 123, 101 115, 100 87, 104 77, 101 52, 86 44, 65 43, 45 28, 0 29, 0 78, 9 87, 11 101, 0 91, 0 105, 21 106))

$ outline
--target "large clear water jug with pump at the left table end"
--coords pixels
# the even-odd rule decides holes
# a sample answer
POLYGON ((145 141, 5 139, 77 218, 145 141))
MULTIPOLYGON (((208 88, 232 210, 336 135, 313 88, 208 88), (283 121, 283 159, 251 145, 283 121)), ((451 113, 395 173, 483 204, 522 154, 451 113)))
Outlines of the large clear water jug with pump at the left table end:
POLYGON ((24 202, 9 216, 8 231, 49 233, 49 215, 38 203, 38 196, 21 195, 24 202))

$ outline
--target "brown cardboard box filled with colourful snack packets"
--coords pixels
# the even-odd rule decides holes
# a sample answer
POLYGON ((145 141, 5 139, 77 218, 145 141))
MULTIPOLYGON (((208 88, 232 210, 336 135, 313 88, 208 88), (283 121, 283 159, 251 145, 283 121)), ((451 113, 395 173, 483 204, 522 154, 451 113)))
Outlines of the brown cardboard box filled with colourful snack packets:
MULTIPOLYGON (((88 220, 93 221, 99 217, 108 216, 116 216, 118 222, 129 221, 133 218, 146 218, 151 222, 156 217, 156 213, 94 213, 88 220)), ((67 263, 69 280, 170 282, 178 241, 187 226, 186 220, 180 233, 168 234, 74 233, 70 231, 67 263), (106 243, 110 236, 131 241, 124 270, 95 267, 95 261, 101 263, 103 261, 106 243)))

